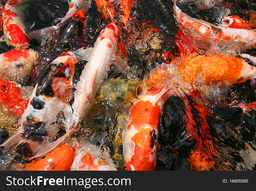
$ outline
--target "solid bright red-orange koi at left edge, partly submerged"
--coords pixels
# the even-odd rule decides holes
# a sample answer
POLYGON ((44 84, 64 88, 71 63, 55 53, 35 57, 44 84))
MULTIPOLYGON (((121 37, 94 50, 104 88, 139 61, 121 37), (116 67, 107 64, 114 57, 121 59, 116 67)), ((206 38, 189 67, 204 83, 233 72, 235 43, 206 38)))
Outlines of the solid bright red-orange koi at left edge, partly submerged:
POLYGON ((7 82, 0 76, 0 102, 8 108, 9 113, 22 116, 29 103, 29 97, 23 96, 19 87, 13 82, 7 82))

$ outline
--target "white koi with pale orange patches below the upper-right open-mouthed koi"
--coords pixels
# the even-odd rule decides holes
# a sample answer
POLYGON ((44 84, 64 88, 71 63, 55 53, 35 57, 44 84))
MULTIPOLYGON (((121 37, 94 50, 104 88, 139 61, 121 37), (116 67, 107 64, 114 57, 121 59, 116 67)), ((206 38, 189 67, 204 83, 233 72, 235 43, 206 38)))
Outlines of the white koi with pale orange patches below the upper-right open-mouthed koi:
POLYGON ((232 46, 236 51, 256 48, 255 31, 214 26, 182 13, 175 3, 173 8, 180 30, 198 48, 218 48, 227 45, 232 46))

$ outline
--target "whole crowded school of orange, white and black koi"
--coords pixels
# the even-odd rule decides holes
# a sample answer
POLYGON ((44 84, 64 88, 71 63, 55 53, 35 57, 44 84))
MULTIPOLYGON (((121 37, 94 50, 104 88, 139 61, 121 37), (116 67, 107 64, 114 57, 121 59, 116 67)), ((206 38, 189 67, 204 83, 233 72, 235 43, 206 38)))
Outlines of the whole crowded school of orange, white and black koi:
MULTIPOLYGON (((8 47, 0 54, 1 117, 14 122, 0 122, 0 170, 156 170, 170 162, 166 145, 190 170, 230 170, 219 159, 225 151, 211 133, 209 118, 218 116, 209 104, 236 84, 255 85, 256 17, 232 15, 224 0, 158 2, 175 23, 165 29, 173 30, 169 46, 161 24, 136 16, 144 1, 61 2, 67 13, 44 28, 27 22, 29 0, 1 1, 0 41, 8 47), (185 13, 189 3, 218 10, 218 24, 185 13), (135 67, 133 57, 144 62, 135 67), (182 109, 168 113, 175 103, 182 109), (162 143, 177 128, 170 117, 163 132, 163 119, 181 112, 187 153, 162 143)), ((224 103, 243 115, 256 111, 256 100, 224 103)))

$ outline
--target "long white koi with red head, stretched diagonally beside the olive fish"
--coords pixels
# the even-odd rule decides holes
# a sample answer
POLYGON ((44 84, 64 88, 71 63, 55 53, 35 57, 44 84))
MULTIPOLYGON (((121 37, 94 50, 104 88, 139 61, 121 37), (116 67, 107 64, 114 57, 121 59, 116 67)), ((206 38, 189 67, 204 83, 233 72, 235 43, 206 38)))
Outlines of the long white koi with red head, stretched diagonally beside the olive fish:
POLYGON ((72 104, 74 112, 70 121, 70 127, 73 129, 89 112, 90 105, 94 102, 94 97, 111 65, 117 42, 118 28, 115 24, 109 24, 99 34, 94 48, 89 50, 91 51, 90 58, 75 87, 72 104))

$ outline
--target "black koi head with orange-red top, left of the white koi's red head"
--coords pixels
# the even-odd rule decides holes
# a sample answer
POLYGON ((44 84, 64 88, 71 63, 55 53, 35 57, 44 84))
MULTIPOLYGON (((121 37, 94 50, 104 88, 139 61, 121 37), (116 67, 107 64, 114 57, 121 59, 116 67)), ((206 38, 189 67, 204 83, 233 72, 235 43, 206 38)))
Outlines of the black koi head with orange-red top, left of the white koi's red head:
MULTIPOLYGON (((82 10, 76 10, 75 13, 61 24, 58 35, 55 38, 57 43, 67 43, 73 39, 81 39, 80 41, 86 42, 86 13, 82 10)), ((82 42, 77 42, 82 43, 82 42)), ((83 45, 81 45, 83 46, 83 45)))

